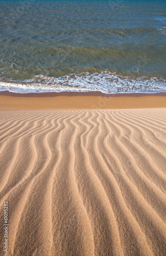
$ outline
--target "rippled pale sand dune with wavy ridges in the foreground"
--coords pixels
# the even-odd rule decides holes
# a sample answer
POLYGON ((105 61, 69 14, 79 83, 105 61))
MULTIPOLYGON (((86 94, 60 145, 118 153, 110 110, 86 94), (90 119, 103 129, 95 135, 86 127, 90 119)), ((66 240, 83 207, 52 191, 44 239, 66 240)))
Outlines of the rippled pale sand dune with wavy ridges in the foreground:
POLYGON ((166 109, 1 111, 1 255, 166 255, 165 124, 166 109))

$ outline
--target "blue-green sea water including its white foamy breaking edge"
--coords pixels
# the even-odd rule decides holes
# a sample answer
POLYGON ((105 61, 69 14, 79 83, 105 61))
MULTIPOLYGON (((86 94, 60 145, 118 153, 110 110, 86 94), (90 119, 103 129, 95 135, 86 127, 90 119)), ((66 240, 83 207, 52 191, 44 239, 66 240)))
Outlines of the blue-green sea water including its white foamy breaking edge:
POLYGON ((166 1, 0 0, 0 91, 166 91, 166 1))

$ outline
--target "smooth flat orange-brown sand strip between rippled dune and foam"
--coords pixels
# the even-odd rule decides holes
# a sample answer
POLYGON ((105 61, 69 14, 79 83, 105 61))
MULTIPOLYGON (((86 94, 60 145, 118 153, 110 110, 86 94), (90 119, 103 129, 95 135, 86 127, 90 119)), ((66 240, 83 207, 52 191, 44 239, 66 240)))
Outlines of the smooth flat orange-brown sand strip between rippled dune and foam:
POLYGON ((0 110, 74 110, 166 108, 166 93, 0 92, 0 110))

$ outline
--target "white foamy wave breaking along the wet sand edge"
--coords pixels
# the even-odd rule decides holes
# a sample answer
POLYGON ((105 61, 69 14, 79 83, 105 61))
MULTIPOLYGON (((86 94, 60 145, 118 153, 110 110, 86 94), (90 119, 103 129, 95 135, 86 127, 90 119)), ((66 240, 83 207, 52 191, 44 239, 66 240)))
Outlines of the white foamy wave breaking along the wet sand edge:
POLYGON ((156 93, 166 92, 166 79, 162 77, 122 76, 104 71, 90 74, 70 74, 61 77, 35 76, 24 81, 1 78, 0 91, 14 93, 88 92, 103 93, 156 93))

